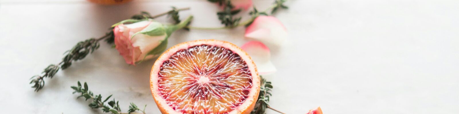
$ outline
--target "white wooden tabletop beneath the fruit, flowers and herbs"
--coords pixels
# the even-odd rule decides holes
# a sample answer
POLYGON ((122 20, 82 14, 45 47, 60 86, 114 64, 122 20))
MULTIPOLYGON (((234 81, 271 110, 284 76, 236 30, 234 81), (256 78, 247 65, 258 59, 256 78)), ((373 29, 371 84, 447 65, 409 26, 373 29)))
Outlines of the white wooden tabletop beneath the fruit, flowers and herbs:
MULTIPOLYGON (((273 0, 254 0, 264 9, 273 0)), ((169 6, 191 7, 193 26, 221 26, 216 5, 206 0, 137 0, 103 6, 84 0, 0 0, 0 110, 3 114, 97 114, 70 86, 88 82, 103 96, 114 94, 159 114, 149 90, 153 60, 127 65, 118 52, 101 48, 45 79, 35 93, 29 78, 76 42, 103 35, 113 23, 140 10, 157 14, 169 6)), ((304 114, 457 114, 459 112, 458 0, 291 0, 278 13, 290 45, 269 46, 278 72, 271 106, 304 114)), ((248 12, 245 12, 248 13, 248 12)), ((183 18, 182 17, 182 18, 183 18)), ((160 18, 158 21, 167 21, 160 18)), ((177 31, 169 47, 196 39, 241 46, 244 28, 177 31)), ((276 114, 269 111, 268 114, 276 114)))

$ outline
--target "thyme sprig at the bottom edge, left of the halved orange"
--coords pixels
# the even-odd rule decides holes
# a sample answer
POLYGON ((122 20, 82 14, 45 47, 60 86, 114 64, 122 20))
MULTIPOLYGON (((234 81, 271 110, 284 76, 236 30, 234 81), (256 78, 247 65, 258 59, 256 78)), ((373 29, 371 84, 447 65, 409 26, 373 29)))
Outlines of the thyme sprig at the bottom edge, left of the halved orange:
POLYGON ((71 88, 75 90, 73 93, 81 93, 81 95, 78 96, 77 98, 83 97, 85 98, 84 99, 85 101, 87 101, 88 99, 92 99, 92 103, 89 104, 89 107, 92 109, 101 108, 103 112, 112 113, 112 114, 146 114, 145 113, 146 105, 143 110, 140 110, 137 107, 137 105, 135 105, 134 103, 130 103, 129 110, 127 113, 122 113, 120 106, 118 104, 119 101, 115 100, 115 98, 113 98, 113 100, 111 101, 108 101, 108 99, 110 99, 112 95, 108 96, 107 98, 105 98, 105 100, 102 101, 101 94, 94 95, 94 93, 92 93, 89 90, 87 83, 84 83, 84 86, 82 86, 81 83, 78 81, 78 86, 72 86, 71 88), (142 113, 135 113, 135 111, 140 111, 142 113))

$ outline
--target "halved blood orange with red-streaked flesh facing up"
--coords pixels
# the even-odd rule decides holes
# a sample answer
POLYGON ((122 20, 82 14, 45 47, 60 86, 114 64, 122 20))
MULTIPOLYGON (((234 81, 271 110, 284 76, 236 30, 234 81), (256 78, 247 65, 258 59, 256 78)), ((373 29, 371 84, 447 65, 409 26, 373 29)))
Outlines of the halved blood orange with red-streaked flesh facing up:
POLYGON ((227 41, 188 41, 151 68, 151 94, 162 114, 249 114, 260 77, 251 57, 227 41))

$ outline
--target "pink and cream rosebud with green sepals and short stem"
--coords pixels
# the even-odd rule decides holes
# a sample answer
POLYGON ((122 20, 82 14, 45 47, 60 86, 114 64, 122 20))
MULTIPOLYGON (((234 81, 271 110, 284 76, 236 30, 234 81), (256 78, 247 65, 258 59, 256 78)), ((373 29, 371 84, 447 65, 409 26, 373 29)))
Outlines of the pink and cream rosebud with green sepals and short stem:
POLYGON ((177 25, 163 25, 153 20, 125 20, 114 26, 115 45, 126 63, 135 65, 144 59, 159 56, 167 47, 168 37, 183 28, 192 16, 177 25), (130 22, 130 24, 123 24, 130 22))

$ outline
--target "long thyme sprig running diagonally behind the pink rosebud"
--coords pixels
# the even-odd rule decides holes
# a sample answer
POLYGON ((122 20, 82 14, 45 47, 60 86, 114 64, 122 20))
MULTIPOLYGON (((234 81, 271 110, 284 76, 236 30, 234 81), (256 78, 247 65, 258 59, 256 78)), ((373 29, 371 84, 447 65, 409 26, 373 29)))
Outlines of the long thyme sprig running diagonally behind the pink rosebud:
MULTIPOLYGON (((173 10, 169 10, 167 12, 151 16, 150 13, 146 11, 140 12, 140 14, 134 15, 131 17, 131 19, 134 20, 144 20, 144 19, 154 19, 160 16, 165 16, 165 15, 172 15, 174 20, 175 19, 174 15, 177 15, 176 17, 178 18, 178 12, 181 10, 190 10, 190 8, 173 8, 173 10)), ((179 20, 178 20, 179 21, 179 20)), ((44 78, 53 78, 56 73, 62 69, 66 69, 72 65, 72 62, 76 62, 78 60, 82 60, 84 57, 89 55, 90 53, 94 52, 96 49, 100 47, 99 41, 104 40, 111 44, 115 41, 115 36, 113 33, 113 27, 109 29, 110 31, 106 32, 104 36, 101 36, 99 38, 90 38, 84 41, 78 42, 75 46, 73 46, 72 49, 64 52, 65 56, 62 58, 62 61, 57 63, 57 64, 50 64, 48 67, 46 67, 41 75, 35 75, 32 78, 30 78, 30 83, 33 84, 32 88, 35 88, 34 91, 38 92, 45 86, 45 80, 44 78)))

